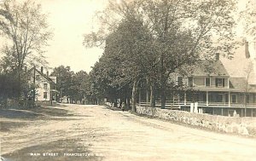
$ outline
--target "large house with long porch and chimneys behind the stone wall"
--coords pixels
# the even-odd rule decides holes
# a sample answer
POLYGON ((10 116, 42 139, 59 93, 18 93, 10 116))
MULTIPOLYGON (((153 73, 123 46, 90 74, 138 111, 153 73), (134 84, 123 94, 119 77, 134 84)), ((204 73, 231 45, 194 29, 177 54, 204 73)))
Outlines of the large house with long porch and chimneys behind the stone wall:
MULTIPOLYGON (((254 68, 250 77, 246 77, 247 73, 244 72, 236 77, 233 75, 242 73, 245 65, 240 67, 241 63, 249 62, 248 59, 253 57, 248 56, 247 43, 245 49, 240 51, 238 55, 243 59, 240 58, 240 63, 237 61, 237 64, 232 63, 232 60, 223 63, 217 54, 216 60, 202 60, 195 66, 184 68, 182 72, 172 73, 169 83, 181 88, 169 91, 166 107, 213 115, 256 117, 254 68), (234 72, 232 76, 230 76, 230 71, 234 72)), ((145 96, 140 97, 145 98, 145 96)), ((141 106, 146 100, 148 99, 140 99, 141 106)), ((160 106, 160 101, 157 101, 156 105, 160 106)))

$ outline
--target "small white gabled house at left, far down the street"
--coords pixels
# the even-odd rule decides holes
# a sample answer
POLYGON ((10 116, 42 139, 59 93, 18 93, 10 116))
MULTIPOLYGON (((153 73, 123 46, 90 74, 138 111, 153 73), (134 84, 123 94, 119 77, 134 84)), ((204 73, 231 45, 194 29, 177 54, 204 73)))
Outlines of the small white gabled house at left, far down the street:
POLYGON ((44 68, 39 71, 32 67, 27 72, 28 83, 35 86, 35 101, 56 101, 58 91, 56 90, 56 77, 49 77, 49 72, 44 74, 44 68))

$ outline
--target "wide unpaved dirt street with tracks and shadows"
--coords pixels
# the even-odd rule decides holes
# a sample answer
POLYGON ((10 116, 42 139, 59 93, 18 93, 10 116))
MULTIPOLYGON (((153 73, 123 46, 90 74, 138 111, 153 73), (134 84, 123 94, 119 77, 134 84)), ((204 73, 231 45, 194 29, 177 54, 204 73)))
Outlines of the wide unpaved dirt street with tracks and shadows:
POLYGON ((5 160, 256 160, 256 139, 66 105, 1 111, 5 160), (12 113, 12 115, 10 115, 12 113))

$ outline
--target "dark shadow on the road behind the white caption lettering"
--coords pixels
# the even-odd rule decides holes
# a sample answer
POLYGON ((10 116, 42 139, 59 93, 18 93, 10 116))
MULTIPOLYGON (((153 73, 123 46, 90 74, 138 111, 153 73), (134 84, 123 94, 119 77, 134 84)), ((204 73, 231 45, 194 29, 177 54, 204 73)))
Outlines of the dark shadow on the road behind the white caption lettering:
POLYGON ((44 160, 102 160, 103 156, 88 150, 88 145, 81 139, 51 141, 46 144, 26 147, 15 152, 4 154, 6 160, 44 161, 44 160), (73 155, 73 156, 71 156, 73 155), (76 156, 75 156, 76 155, 76 156), (78 156, 79 155, 79 156, 78 156))

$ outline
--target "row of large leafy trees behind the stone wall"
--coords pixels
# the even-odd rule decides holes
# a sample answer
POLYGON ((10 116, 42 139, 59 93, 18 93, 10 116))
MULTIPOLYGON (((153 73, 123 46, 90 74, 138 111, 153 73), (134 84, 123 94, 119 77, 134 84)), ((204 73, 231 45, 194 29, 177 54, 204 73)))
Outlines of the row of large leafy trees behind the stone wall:
POLYGON ((236 1, 119 2, 110 1, 98 14, 99 32, 84 35, 86 47, 104 44, 102 58, 90 72, 97 98, 131 100, 135 111, 138 86, 147 83, 151 106, 159 95, 164 108, 166 90, 177 88, 168 81, 170 74, 216 53, 232 55, 236 1))

